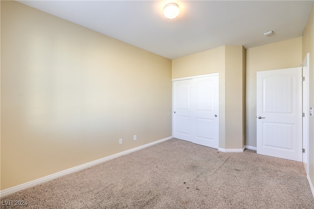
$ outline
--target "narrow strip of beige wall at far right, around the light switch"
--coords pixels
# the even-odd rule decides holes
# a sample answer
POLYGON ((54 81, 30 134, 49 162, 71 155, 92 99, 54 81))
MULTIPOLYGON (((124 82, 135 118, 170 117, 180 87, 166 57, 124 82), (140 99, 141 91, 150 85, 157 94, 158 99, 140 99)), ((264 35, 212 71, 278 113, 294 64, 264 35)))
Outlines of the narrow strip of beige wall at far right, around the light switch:
MULTIPOLYGON (((302 60, 310 53, 310 107, 314 107, 314 5, 302 36, 302 60)), ((314 117, 309 117, 309 176, 314 187, 314 117)))

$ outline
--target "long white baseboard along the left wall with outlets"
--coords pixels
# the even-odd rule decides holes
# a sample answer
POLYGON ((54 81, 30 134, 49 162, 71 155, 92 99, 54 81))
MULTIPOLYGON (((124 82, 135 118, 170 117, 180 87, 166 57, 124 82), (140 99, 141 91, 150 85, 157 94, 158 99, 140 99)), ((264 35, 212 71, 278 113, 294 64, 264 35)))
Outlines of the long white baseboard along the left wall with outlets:
POLYGON ((69 169, 66 169, 66 170, 63 170, 63 171, 60 171, 60 172, 57 172, 57 173, 54 173, 54 174, 51 174, 51 175, 39 178, 39 179, 35 179, 33 181, 30 181, 30 182, 22 183, 22 184, 17 185, 17 186, 13 186, 13 187, 10 187, 10 188, 7 188, 7 189, 3 189, 3 190, 0 191, 0 197, 3 197, 3 196, 8 195, 8 194, 12 194, 14 192, 26 189, 28 187, 31 187, 31 186, 34 186, 34 185, 37 185, 37 184, 40 184, 40 183, 51 181, 51 180, 56 179, 58 177, 61 177, 61 176, 64 176, 64 175, 67 175, 67 174, 70 174, 70 173, 74 173, 74 172, 77 172, 79 170, 83 170, 85 168, 91 167, 93 165, 105 162, 107 160, 110 160, 110 159, 113 159, 113 158, 116 158, 116 157, 127 155, 129 153, 134 152, 134 151, 141 150, 143 148, 155 145, 157 143, 160 143, 160 142, 172 139, 172 138, 173 138, 172 136, 169 136, 167 138, 163 138, 163 139, 160 139, 160 140, 157 140, 157 141, 154 141, 154 142, 151 142, 151 143, 139 146, 139 147, 135 147, 133 149, 126 150, 126 151, 123 151, 121 153, 117 153, 117 154, 114 154, 114 155, 111 155, 111 156, 103 157, 101 159, 97 159, 97 160, 94 160, 94 161, 91 161, 91 162, 87 162, 85 164, 78 165, 76 167, 69 168, 69 169))

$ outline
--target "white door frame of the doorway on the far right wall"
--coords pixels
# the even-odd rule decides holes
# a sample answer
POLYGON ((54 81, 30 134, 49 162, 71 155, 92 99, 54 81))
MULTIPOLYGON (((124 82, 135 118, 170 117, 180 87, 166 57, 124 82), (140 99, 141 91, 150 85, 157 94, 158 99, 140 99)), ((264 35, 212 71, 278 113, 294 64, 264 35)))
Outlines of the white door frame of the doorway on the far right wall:
POLYGON ((302 146, 305 150, 303 153, 302 162, 305 164, 306 173, 309 174, 309 116, 310 116, 310 105, 309 105, 309 67, 310 67, 310 53, 307 53, 302 62, 302 77, 304 81, 302 83, 302 112, 305 113, 305 117, 302 120, 302 146), (305 95, 303 94, 305 91, 305 95), (305 96, 305 97, 304 97, 305 96))

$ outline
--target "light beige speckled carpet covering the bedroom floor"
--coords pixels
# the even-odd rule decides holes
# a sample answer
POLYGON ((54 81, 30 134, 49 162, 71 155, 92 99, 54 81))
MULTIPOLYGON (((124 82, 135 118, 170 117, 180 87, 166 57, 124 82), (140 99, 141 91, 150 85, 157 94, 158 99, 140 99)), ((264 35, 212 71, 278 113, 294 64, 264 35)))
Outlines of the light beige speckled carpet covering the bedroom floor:
POLYGON ((178 139, 1 198, 9 200, 34 209, 314 209, 301 162, 178 139))

